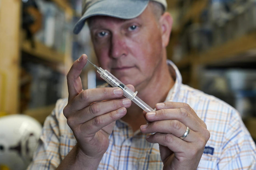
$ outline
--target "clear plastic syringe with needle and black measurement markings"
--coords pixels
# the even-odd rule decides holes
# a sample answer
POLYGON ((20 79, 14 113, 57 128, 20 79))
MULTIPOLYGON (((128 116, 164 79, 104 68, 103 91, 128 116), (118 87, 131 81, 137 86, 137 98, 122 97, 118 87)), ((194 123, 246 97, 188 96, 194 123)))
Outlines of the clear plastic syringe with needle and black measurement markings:
MULTIPOLYGON (((86 60, 87 60, 87 58, 86 58, 86 60)), ((89 60, 87 60, 87 61, 89 61, 89 60)), ((126 98, 133 101, 135 104, 137 104, 139 107, 141 107, 146 112, 155 111, 149 105, 147 105, 144 101, 142 101, 138 96, 136 96, 137 91, 133 92, 130 88, 125 86, 120 80, 118 80, 109 71, 103 70, 101 67, 98 67, 93 63, 91 63, 91 64, 95 67, 95 69, 97 69, 97 72, 101 75, 101 78, 103 78, 112 87, 120 87, 123 90, 123 96, 125 96, 126 98)))

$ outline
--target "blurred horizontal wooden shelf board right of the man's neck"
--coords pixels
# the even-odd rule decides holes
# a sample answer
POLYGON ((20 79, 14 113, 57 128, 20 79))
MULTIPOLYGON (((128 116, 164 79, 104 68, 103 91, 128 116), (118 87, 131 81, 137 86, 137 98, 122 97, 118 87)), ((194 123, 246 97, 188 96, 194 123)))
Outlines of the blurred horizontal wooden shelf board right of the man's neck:
POLYGON ((225 62, 256 61, 256 31, 246 34, 227 43, 213 47, 201 54, 188 55, 176 65, 181 68, 193 63, 214 65, 225 62), (254 55, 255 54, 255 55, 254 55))

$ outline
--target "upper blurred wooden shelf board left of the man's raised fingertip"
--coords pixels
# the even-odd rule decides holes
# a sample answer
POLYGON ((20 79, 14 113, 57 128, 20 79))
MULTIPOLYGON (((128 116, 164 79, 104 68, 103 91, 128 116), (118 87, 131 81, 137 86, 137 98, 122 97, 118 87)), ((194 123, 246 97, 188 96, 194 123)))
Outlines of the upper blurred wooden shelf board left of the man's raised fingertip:
POLYGON ((21 48, 24 52, 46 60, 48 62, 54 63, 64 63, 65 62, 65 54, 59 53, 56 50, 53 50, 43 43, 36 41, 35 48, 31 47, 31 43, 28 40, 25 40, 21 44, 21 48))

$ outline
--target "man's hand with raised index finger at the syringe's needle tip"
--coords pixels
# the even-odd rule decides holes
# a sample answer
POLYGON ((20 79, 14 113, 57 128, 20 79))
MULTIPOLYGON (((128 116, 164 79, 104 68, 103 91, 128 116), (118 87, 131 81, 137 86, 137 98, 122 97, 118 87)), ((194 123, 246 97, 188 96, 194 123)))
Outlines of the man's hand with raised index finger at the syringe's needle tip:
MULTIPOLYGON (((79 75, 87 63, 86 58, 83 54, 67 74, 69 99, 63 113, 77 140, 78 155, 101 159, 109 146, 115 121, 125 116, 131 100, 120 99, 123 91, 119 87, 83 90, 79 75)), ((131 85, 129 88, 134 90, 131 85)))

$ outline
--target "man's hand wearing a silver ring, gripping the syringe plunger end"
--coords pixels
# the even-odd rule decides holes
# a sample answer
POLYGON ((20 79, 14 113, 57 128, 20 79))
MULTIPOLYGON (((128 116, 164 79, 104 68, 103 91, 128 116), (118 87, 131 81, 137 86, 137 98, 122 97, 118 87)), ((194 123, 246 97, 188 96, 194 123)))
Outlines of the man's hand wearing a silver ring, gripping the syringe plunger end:
POLYGON ((158 143, 163 169, 197 169, 210 132, 194 110, 186 103, 166 102, 156 104, 157 111, 145 114, 147 125, 142 133, 150 143, 158 143), (187 126, 190 132, 180 139, 187 126))

